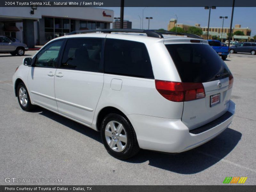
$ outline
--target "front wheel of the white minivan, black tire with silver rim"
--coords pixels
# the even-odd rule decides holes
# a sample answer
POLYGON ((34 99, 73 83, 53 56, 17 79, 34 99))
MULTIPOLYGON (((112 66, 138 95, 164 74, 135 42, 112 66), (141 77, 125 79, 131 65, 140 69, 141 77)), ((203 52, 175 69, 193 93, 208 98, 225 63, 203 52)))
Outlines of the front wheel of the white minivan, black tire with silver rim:
POLYGON ((28 90, 24 83, 20 83, 17 87, 17 98, 22 110, 30 111, 33 109, 34 106, 31 104, 28 90))

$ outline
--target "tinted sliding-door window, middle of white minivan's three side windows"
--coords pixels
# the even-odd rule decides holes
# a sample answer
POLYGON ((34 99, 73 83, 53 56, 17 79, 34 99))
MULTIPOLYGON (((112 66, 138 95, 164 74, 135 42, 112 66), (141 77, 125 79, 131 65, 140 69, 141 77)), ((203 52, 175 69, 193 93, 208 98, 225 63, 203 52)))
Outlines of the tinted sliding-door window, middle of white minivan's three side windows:
POLYGON ((61 68, 98 72, 102 39, 68 39, 61 68))

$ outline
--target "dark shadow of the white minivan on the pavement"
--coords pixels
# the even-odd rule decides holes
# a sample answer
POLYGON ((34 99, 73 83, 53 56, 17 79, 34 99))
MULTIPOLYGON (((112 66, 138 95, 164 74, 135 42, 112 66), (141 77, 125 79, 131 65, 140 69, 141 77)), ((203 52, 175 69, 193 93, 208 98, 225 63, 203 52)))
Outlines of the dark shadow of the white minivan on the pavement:
MULTIPOLYGON (((33 112, 40 112, 40 115, 46 116, 102 143, 100 133, 89 127, 76 123, 75 121, 55 114, 44 108, 38 107, 33 112)), ((197 172, 204 171, 227 156, 236 147, 241 137, 242 134, 240 132, 227 128, 219 136, 204 145, 183 153, 164 154, 141 149, 138 155, 124 161, 134 164, 149 161, 148 165, 160 169, 180 174, 195 174, 197 172)), ((104 147, 103 144, 102 147, 104 147)))

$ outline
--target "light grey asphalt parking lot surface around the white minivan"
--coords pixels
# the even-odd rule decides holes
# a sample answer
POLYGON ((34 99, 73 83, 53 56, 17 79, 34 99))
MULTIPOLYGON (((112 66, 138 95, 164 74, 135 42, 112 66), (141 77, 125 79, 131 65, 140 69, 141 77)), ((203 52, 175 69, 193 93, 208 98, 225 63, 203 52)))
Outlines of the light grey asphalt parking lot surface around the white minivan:
POLYGON ((256 55, 232 54, 225 61, 234 76, 236 114, 222 134, 188 152, 141 150, 121 161, 108 155, 98 132, 43 108, 20 109, 12 75, 35 53, 0 54, 0 185, 25 184, 6 183, 7 177, 62 179, 41 185, 222 185, 225 177, 256 184, 256 55))

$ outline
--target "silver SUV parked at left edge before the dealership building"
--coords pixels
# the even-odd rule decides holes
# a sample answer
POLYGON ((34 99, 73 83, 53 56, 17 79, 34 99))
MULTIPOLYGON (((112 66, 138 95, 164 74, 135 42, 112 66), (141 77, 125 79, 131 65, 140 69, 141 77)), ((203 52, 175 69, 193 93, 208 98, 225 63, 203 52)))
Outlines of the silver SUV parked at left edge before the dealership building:
POLYGON ((0 53, 9 52, 11 55, 22 56, 28 47, 24 43, 12 42, 11 39, 6 36, 0 36, 0 53))

